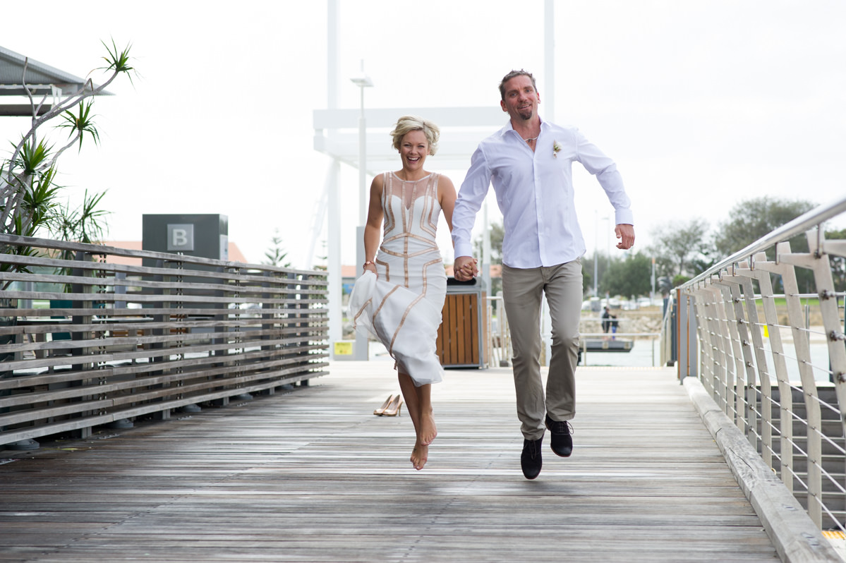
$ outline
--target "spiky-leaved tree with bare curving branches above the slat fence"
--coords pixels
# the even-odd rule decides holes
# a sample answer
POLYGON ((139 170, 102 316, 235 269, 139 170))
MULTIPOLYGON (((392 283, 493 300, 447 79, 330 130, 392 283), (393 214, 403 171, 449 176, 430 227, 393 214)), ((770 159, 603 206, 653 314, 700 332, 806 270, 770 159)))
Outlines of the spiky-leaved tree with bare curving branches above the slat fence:
MULTIPOLYGON (((102 200, 103 194, 89 198, 86 192, 85 201, 78 210, 69 210, 69 207, 59 205, 57 198, 62 187, 56 183, 56 163, 58 157, 70 147, 78 144, 78 150, 81 150, 86 137, 90 137, 95 144, 99 143, 100 134, 94 123, 96 116, 91 112, 92 96, 102 92, 120 74, 130 75, 131 81, 131 73, 135 69, 129 66, 129 46, 123 51, 118 50, 114 41, 112 47, 105 43, 103 46, 107 50, 107 56, 103 57, 107 65, 100 70, 108 73, 106 81, 95 87, 90 78, 86 79, 79 91, 65 97, 41 116, 39 112, 47 101, 47 95, 40 101, 33 98, 32 90, 26 83, 28 60, 25 61, 21 84, 30 101, 32 121, 30 130, 21 136, 16 145, 13 144, 12 156, 0 166, 0 232, 32 237, 41 228, 47 228, 51 234, 64 240, 81 239, 84 242, 91 242, 92 235, 102 234, 103 225, 99 220, 105 212, 96 210, 96 205, 102 200), (69 129, 69 140, 58 150, 53 150, 51 142, 40 138, 40 128, 59 116, 63 118, 63 123, 57 127, 69 129)), ((0 251, 6 254, 35 254, 33 249, 23 246, 0 245, 0 251)), ((25 266, 13 268, 26 271, 25 266)))

